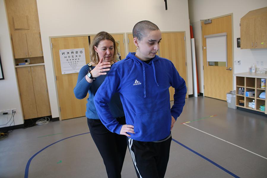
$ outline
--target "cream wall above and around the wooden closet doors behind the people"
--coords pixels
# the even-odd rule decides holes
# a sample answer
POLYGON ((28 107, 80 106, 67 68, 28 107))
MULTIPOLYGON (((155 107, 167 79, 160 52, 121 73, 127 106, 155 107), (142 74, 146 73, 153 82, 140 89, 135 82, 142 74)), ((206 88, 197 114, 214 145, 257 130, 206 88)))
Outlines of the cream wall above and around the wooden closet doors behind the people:
POLYGON ((187 0, 37 0, 52 117, 59 117, 49 36, 131 32, 141 20, 161 31, 185 31, 188 94, 193 94, 190 28, 187 0))

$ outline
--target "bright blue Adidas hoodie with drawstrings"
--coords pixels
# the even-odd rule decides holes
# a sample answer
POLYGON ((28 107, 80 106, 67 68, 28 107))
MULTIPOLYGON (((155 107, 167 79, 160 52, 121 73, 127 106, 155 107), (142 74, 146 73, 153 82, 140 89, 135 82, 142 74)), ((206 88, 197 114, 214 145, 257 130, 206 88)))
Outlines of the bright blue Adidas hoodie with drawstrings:
POLYGON ((158 55, 145 63, 129 53, 113 64, 94 103, 102 123, 120 134, 122 125, 112 116, 108 103, 114 93, 120 93, 126 124, 134 125, 131 139, 143 142, 159 141, 170 135, 171 116, 177 119, 185 105, 185 80, 173 63, 158 55), (169 87, 175 89, 174 105, 170 107, 169 87), (171 108, 171 109, 170 109, 171 108))

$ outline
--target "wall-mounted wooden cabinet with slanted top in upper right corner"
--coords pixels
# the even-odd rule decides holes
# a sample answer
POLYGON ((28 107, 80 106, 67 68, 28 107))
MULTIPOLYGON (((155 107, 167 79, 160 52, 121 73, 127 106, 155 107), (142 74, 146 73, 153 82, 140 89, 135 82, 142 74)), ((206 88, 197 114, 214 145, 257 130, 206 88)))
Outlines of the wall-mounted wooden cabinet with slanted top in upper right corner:
POLYGON ((267 48, 267 7, 249 11, 240 20, 241 49, 267 48))

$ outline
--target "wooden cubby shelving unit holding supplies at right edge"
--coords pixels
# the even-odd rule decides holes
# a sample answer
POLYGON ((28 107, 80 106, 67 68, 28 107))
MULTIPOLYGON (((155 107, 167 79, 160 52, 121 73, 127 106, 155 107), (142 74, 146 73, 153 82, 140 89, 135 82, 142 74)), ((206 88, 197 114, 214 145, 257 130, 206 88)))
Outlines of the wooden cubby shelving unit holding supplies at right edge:
POLYGON ((266 99, 259 97, 260 93, 266 91, 266 87, 261 88, 261 79, 263 78, 267 80, 267 74, 245 72, 234 74, 234 76, 236 76, 236 106, 267 114, 266 109, 265 111, 260 110, 261 105, 267 104, 266 99), (244 95, 238 94, 239 88, 244 88, 244 95), (246 96, 247 91, 255 91, 255 96, 246 96), (244 106, 240 105, 240 100, 244 101, 244 106), (255 100, 255 109, 249 107, 249 102, 252 102, 253 100, 255 100))

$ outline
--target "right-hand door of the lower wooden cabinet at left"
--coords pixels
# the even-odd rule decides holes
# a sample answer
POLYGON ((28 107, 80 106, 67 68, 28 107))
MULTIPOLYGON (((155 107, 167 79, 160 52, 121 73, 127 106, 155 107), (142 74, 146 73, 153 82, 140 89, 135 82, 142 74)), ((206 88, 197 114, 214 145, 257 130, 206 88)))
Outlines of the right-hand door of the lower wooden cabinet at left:
POLYGON ((51 115, 45 66, 31 66, 31 76, 38 117, 51 115))

